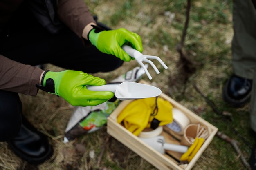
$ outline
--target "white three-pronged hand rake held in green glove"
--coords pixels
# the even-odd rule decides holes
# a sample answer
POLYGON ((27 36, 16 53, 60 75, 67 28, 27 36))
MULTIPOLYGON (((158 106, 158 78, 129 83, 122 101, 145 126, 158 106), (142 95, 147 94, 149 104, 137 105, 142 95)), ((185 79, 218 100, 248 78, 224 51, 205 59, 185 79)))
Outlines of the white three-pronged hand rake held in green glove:
POLYGON ((143 64, 143 62, 148 62, 155 70, 155 72, 157 74, 160 73, 160 71, 157 69, 157 67, 155 66, 155 64, 148 60, 148 59, 156 59, 160 62, 160 64, 162 64, 162 66, 167 69, 168 67, 166 66, 166 64, 164 64, 164 62, 157 56, 152 56, 152 55, 143 55, 141 52, 133 49, 132 47, 130 46, 127 46, 127 45, 123 45, 122 46, 122 49, 128 54, 130 55, 131 57, 135 58, 135 60, 139 63, 139 65, 144 69, 146 75, 148 76, 148 78, 151 80, 152 77, 151 75, 149 74, 146 66, 143 64))

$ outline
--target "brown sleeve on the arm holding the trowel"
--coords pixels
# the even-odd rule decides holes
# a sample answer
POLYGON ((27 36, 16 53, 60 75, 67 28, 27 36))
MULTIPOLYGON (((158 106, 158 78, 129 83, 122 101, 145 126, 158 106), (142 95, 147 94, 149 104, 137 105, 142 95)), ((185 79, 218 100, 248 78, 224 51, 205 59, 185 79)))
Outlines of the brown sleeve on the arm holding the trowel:
POLYGON ((0 89, 36 96, 43 70, 0 55, 0 89))

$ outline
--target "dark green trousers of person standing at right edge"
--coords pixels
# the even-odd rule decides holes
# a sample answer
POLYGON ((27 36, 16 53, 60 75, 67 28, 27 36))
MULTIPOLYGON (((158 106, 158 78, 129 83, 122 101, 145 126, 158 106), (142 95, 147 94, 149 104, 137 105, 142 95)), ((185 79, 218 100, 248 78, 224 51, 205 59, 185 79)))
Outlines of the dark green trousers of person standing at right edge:
POLYGON ((253 79, 250 119, 251 127, 256 132, 256 9, 252 0, 233 0, 233 23, 234 73, 253 79))

